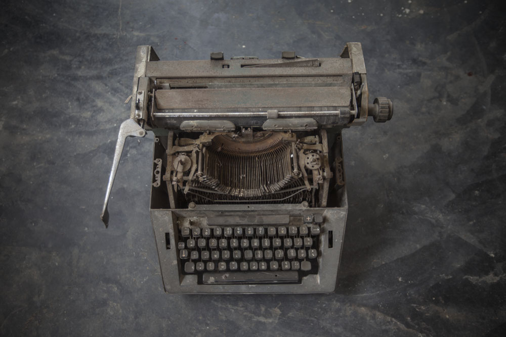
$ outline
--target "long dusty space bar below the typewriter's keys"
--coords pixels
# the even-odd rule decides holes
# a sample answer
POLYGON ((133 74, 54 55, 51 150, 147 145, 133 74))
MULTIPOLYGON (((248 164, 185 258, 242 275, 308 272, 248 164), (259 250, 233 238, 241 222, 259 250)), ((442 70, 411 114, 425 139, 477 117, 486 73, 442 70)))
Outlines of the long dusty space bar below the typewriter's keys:
POLYGON ((204 284, 294 283, 298 281, 297 271, 246 271, 202 275, 204 284))

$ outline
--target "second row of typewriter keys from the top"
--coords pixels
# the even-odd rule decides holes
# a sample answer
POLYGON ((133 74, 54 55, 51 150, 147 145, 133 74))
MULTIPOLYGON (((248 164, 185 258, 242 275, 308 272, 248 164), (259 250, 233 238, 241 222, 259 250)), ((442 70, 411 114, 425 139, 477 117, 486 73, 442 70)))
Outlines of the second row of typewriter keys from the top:
MULTIPOLYGON (((185 245, 184 241, 180 241, 178 243, 178 249, 186 249, 186 248, 194 249, 195 247, 198 247, 201 249, 205 249, 207 247, 209 247, 210 249, 214 249, 214 248, 218 248, 218 247, 220 247, 221 249, 227 249, 227 248, 229 248, 229 246, 230 246, 230 248, 238 248, 240 246, 243 249, 250 248, 250 247, 251 248, 260 248, 260 247, 270 248, 271 247, 271 239, 270 238, 263 238, 263 239, 252 238, 251 240, 249 240, 247 238, 242 238, 242 239, 232 238, 230 240, 227 240, 224 238, 222 238, 222 239, 199 238, 199 239, 195 240, 194 238, 189 238, 186 240, 186 245, 185 245)), ((281 238, 279 238, 279 237, 272 238, 272 247, 274 247, 274 248, 279 248, 279 247, 300 248, 302 246, 304 246, 304 247, 313 246, 313 238, 309 237, 309 236, 304 237, 304 239, 302 237, 294 237, 294 238, 288 237, 283 240, 281 240, 281 238)))

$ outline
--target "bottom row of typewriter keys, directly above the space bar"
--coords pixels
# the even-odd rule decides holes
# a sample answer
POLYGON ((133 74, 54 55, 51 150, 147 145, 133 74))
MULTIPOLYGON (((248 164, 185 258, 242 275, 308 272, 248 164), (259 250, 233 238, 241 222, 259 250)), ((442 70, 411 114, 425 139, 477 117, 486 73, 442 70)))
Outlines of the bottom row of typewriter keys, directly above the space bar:
POLYGON ((302 262, 282 261, 280 263, 278 263, 277 261, 271 261, 269 263, 267 263, 265 261, 261 261, 261 262, 252 261, 249 263, 248 262, 237 263, 235 261, 232 261, 229 263, 227 263, 227 262, 218 262, 218 263, 214 263, 214 262, 207 262, 207 263, 186 262, 185 263, 185 272, 188 274, 191 274, 196 271, 197 272, 198 271, 215 271, 216 266, 218 266, 218 271, 227 271, 227 270, 230 270, 230 271, 236 271, 236 270, 240 270, 240 271, 272 270, 272 271, 275 271, 275 270, 279 270, 279 269, 281 269, 281 270, 302 270, 302 271, 311 270, 311 262, 309 262, 309 261, 302 261, 302 262))

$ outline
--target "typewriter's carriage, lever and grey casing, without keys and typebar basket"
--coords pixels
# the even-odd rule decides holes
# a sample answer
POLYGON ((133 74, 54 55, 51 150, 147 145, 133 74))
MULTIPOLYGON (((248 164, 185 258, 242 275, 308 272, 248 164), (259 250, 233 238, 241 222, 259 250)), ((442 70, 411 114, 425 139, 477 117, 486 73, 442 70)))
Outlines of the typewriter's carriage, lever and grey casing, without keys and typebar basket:
MULTIPOLYGON (((341 58, 328 59, 304 59, 294 52, 283 52, 281 59, 272 60, 255 57, 225 60, 223 53, 212 53, 211 60, 159 61, 151 46, 139 46, 130 119, 121 124, 102 221, 107 227, 108 200, 126 137, 143 137, 146 131, 152 131, 155 139, 150 215, 167 293, 332 292, 338 275, 348 211, 341 131, 363 124, 368 116, 372 116, 375 122, 386 122, 393 114, 390 100, 376 98, 373 104, 368 104, 368 98, 362 47, 357 42, 347 43, 341 58), (328 195, 329 202, 332 199, 333 204, 309 207, 307 202, 249 205, 196 205, 192 202, 187 204, 188 208, 175 208, 175 197, 167 200, 171 182, 164 179, 165 185, 161 181, 163 165, 167 166, 164 156, 166 158, 167 149, 172 146, 168 142, 172 141, 173 135, 237 129, 244 132, 247 128, 250 128, 249 132, 253 129, 274 132, 320 130, 323 149, 329 154, 325 156, 326 165, 329 158, 339 159, 333 162, 334 180, 331 180, 331 186, 336 187, 334 195, 328 195), (249 215, 247 219, 253 220, 244 225, 265 226, 275 225, 265 222, 266 218, 280 214, 289 216, 290 223, 292 219, 322 215, 317 274, 303 276, 300 283, 199 284, 197 275, 182 272, 182 263, 177 255, 178 218, 208 219, 226 215, 232 219, 249 215)), ((293 158, 296 162, 295 155, 293 158)), ((306 186, 310 188, 307 180, 306 186)), ((328 181, 323 186, 328 189, 324 189, 324 193, 332 190, 328 181)), ((276 271, 268 273, 277 277, 276 271)))

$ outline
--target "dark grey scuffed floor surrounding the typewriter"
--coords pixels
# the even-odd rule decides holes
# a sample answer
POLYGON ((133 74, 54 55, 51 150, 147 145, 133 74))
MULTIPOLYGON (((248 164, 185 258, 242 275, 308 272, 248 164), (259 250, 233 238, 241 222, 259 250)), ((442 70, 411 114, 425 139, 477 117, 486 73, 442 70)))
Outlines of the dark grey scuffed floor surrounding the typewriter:
POLYGON ((506 23, 493 1, 4 1, 0 334, 504 335, 506 23), (343 133, 349 216, 328 295, 172 296, 149 218, 153 136, 129 138, 136 46, 162 60, 336 57, 370 100, 343 133))

